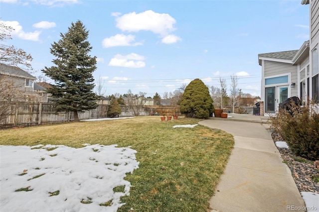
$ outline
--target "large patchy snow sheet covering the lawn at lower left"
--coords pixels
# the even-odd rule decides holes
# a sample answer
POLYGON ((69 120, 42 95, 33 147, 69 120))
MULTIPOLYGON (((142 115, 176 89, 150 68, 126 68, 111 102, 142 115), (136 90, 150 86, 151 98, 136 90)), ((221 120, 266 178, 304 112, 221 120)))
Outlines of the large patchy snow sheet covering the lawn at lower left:
POLYGON ((139 168, 136 153, 116 145, 0 145, 0 210, 116 212, 130 194, 126 173, 139 168))

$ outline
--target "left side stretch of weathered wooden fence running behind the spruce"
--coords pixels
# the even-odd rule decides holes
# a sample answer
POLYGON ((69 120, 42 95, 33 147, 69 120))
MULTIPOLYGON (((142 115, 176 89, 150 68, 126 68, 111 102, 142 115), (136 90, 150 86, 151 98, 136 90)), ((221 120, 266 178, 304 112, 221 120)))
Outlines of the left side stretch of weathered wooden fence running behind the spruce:
MULTIPOLYGON (((0 107, 1 107, 0 103, 0 107)), ((46 123, 58 123, 74 120, 73 112, 56 112, 55 103, 14 103, 10 106, 9 114, 0 120, 0 127, 30 126, 46 123)), ((95 109, 79 113, 79 119, 104 118, 107 105, 99 105, 95 109)))

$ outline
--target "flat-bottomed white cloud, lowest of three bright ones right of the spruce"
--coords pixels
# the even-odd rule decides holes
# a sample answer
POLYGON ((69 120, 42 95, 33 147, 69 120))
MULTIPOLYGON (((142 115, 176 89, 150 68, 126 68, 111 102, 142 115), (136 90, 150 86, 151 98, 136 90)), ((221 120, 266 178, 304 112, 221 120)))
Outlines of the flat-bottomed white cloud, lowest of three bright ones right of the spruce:
POLYGON ((135 53, 131 53, 128 55, 117 54, 111 59, 109 66, 143 68, 146 65, 143 60, 145 60, 144 56, 135 53))

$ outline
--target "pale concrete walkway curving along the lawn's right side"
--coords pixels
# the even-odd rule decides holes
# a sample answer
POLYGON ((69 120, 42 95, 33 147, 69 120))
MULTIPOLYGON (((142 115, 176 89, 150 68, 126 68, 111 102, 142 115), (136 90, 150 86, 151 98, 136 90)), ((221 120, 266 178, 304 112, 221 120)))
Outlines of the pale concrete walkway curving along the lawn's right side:
POLYGON ((283 163, 267 116, 229 114, 199 124, 224 130, 235 146, 210 200, 211 212, 285 212, 305 207, 288 166, 283 163))

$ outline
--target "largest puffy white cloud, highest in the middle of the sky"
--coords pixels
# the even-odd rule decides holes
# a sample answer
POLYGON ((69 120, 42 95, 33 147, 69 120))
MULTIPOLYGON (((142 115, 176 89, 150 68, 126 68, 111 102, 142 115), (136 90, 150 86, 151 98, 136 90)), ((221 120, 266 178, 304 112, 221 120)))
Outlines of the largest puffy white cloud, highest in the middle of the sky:
POLYGON ((166 13, 157 13, 147 10, 141 13, 131 12, 116 18, 116 27, 122 31, 138 32, 152 31, 165 36, 175 30, 175 19, 166 13))

